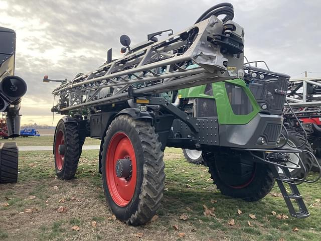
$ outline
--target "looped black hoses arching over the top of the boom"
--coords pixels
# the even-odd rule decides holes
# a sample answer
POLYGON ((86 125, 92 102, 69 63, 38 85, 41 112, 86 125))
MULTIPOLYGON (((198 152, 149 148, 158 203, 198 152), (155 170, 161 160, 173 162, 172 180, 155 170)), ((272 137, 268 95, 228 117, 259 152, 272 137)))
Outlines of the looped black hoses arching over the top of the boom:
POLYGON ((205 11, 200 18, 195 22, 195 24, 210 18, 212 15, 218 17, 220 15, 226 15, 223 18, 223 23, 228 20, 232 20, 234 18, 234 8, 232 4, 229 3, 221 3, 213 6, 212 8, 205 11))

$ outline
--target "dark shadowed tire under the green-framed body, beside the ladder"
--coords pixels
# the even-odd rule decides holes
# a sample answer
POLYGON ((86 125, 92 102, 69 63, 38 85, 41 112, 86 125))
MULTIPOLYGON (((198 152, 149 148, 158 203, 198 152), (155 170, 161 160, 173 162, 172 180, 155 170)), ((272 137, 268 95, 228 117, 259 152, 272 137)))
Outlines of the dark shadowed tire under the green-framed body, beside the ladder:
POLYGON ((214 184, 226 196, 257 201, 265 197, 275 183, 270 168, 250 158, 216 154, 207 164, 214 184), (241 167, 243 173, 240 173, 241 167))

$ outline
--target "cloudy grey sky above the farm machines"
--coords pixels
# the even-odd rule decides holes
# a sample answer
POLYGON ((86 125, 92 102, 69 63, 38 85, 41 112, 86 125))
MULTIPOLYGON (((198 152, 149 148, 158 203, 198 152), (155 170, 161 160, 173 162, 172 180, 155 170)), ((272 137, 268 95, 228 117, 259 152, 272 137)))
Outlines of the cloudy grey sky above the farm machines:
MULTIPOLYGON (((245 30, 245 55, 293 78, 321 76, 321 1, 235 0, 234 21, 245 30)), ((132 44, 164 29, 183 30, 219 1, 0 0, 0 26, 17 33, 16 75, 28 91, 22 123, 52 124, 53 79, 72 79, 120 55, 119 36, 132 44)), ((55 121, 60 116, 55 114, 55 121)))

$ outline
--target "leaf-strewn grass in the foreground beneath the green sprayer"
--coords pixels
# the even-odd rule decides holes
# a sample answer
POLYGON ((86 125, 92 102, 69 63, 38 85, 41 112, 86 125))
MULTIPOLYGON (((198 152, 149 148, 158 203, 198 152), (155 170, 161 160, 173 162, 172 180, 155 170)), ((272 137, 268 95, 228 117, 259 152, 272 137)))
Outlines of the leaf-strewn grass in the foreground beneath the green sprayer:
POLYGON ((77 178, 62 181, 50 151, 21 152, 19 182, 0 186, 0 240, 320 240, 320 181, 299 186, 309 218, 277 219, 271 211, 288 215, 277 187, 253 203, 223 196, 206 167, 187 163, 180 149, 167 149, 161 208, 152 221, 133 227, 108 210, 97 158, 98 151, 83 151, 77 178), (205 216, 203 205, 214 207, 216 217, 205 216), (60 206, 67 209, 58 212, 60 206), (180 219, 182 214, 188 219, 180 219), (74 225, 80 230, 72 230, 74 225))

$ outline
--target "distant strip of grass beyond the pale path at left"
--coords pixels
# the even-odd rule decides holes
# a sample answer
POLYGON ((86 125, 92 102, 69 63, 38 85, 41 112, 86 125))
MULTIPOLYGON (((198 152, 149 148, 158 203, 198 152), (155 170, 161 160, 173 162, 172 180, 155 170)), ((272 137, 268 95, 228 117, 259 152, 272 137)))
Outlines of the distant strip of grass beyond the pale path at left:
MULTIPOLYGON (((1 142, 17 142, 18 146, 52 146, 54 136, 18 137, 15 139, 2 139, 1 142)), ((87 137, 84 145, 100 145, 100 140, 87 137)))

